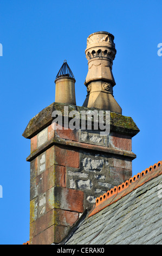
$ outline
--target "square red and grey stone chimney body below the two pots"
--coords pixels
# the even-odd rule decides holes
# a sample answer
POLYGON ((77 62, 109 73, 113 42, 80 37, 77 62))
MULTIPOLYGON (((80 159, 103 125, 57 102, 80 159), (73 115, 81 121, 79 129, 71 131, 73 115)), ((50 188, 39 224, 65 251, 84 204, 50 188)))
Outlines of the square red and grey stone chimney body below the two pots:
MULTIPOLYGON (((130 117, 111 112, 111 132, 54 130, 52 103, 29 121, 23 136, 31 141, 30 244, 59 243, 96 197, 132 176, 132 137, 139 132, 130 117)), ((85 107, 68 105, 69 111, 85 107)))

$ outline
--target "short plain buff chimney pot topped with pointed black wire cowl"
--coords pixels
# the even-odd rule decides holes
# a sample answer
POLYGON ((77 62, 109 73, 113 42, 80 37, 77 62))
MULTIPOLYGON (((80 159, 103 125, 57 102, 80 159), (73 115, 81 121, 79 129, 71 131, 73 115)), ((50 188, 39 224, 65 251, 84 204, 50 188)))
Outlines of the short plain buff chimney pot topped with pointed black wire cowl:
POLYGON ((55 84, 55 102, 76 105, 75 78, 66 60, 56 76, 55 84))

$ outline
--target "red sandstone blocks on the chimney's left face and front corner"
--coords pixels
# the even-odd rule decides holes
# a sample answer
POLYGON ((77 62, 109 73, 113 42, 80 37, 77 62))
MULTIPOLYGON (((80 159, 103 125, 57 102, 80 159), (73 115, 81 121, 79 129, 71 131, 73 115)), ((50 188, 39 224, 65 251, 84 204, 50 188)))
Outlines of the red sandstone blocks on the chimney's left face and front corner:
MULTIPOLYGON (((31 154, 54 136, 77 139, 75 131, 49 125, 31 138, 31 154)), ((60 242, 83 212, 83 192, 67 187, 67 167, 79 167, 79 151, 59 145, 30 162, 30 244, 60 242)))

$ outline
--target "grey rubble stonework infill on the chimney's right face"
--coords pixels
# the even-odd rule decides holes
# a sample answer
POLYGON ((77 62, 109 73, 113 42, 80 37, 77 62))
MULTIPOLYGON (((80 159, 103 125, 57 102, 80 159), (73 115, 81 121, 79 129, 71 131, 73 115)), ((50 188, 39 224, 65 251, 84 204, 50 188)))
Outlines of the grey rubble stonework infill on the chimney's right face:
MULTIPOLYGON (((112 141, 116 136, 103 135, 99 132, 79 131, 79 140, 89 143, 90 145, 101 145, 107 147, 109 141, 112 141)), ((125 149, 131 149, 131 139, 122 136, 126 141, 125 149)), ((117 142, 116 142, 117 143, 117 142)), ((120 142, 121 143, 121 142, 120 142)), ((122 144, 122 143, 121 143, 122 144)), ((92 208, 96 197, 101 193, 105 193, 113 186, 117 186, 132 176, 132 160, 124 156, 114 156, 104 152, 95 150, 80 150, 79 168, 67 167, 67 186, 76 190, 81 190, 85 193, 84 206, 88 209, 92 208)), ((116 145, 113 144, 113 148, 116 145)))

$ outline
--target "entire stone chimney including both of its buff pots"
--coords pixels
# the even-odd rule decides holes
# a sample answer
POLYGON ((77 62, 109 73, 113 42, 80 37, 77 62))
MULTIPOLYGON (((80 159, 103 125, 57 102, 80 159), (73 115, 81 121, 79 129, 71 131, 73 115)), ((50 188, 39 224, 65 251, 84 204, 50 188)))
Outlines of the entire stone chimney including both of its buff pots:
MULTIPOLYGON (((112 62, 116 53, 113 38, 107 32, 98 32, 87 40, 88 107, 76 106, 75 78, 64 61, 55 80, 55 102, 31 118, 23 132, 31 145, 27 157, 30 245, 60 243, 86 209, 92 209, 97 197, 132 176, 132 160, 136 157, 132 137, 139 129, 131 117, 121 114, 112 94, 112 62), (95 107, 98 116, 100 109, 111 111, 109 133, 102 133, 101 127, 94 129, 94 109, 89 107, 95 107), (87 121, 91 115, 91 130, 67 127, 73 120, 69 113, 74 111, 79 114, 80 124, 83 112, 87 113, 87 121), (62 124, 54 125, 54 112, 60 113, 62 124)), ((105 120, 106 112, 102 112, 105 120)))

